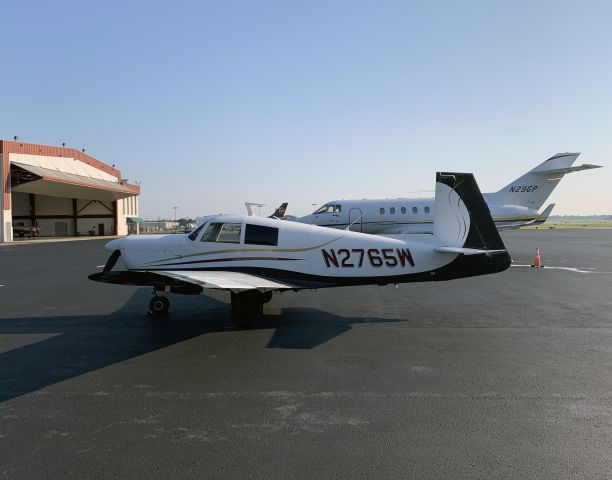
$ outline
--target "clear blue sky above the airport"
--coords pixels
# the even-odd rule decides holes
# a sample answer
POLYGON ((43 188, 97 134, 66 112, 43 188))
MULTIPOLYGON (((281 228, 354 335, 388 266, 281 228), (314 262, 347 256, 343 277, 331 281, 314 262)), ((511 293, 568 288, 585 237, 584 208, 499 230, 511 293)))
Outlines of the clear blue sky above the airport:
POLYGON ((557 214, 612 214, 612 3, 19 1, 2 6, 0 136, 142 182, 141 214, 289 213, 483 191, 557 152, 557 214), (263 211, 262 211, 263 213, 263 211))

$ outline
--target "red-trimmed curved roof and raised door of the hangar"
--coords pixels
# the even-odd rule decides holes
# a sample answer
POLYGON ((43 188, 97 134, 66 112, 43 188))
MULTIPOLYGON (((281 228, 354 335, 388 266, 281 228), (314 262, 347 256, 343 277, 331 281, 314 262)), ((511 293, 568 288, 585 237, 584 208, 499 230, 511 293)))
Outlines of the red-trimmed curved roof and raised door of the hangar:
POLYGON ((0 140, 5 209, 14 192, 90 200, 118 200, 140 194, 121 181, 121 172, 85 152, 67 147, 0 140), (10 179, 10 182, 9 182, 10 179))

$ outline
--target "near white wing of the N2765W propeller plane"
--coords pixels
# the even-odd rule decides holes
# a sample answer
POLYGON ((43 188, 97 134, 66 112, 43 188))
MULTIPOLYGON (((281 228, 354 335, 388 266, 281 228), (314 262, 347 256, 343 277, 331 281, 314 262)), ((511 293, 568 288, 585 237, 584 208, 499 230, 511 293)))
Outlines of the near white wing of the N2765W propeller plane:
POLYGON ((257 275, 229 271, 186 271, 186 270, 162 270, 156 271, 156 275, 179 280, 181 282, 193 283, 202 288, 217 288, 230 290, 234 293, 246 290, 259 290, 262 293, 272 290, 288 290, 296 288, 294 285, 273 282, 257 275))

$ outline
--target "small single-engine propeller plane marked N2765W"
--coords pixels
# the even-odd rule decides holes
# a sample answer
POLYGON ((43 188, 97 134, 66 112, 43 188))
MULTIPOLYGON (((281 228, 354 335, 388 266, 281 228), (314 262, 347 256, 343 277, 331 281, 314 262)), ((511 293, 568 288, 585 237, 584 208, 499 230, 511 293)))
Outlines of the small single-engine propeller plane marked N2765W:
POLYGON ((472 174, 436 175, 431 235, 369 235, 253 216, 209 218, 188 235, 129 236, 110 241, 102 272, 91 280, 153 287, 152 315, 164 315, 166 292, 231 292, 231 319, 248 328, 273 291, 442 281, 510 266, 499 232, 472 174), (113 271, 119 257, 127 267, 113 271))

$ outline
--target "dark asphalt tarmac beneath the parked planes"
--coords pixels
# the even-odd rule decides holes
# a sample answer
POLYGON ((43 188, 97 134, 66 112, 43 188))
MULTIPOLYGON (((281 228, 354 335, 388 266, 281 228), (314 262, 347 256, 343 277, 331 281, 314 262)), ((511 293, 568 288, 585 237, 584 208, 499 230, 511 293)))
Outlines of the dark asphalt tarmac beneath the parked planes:
POLYGON ((612 478, 612 230, 503 233, 451 282, 229 295, 90 282, 103 241, 0 246, 0 479, 612 478), (559 267, 559 268, 551 268, 559 267))

